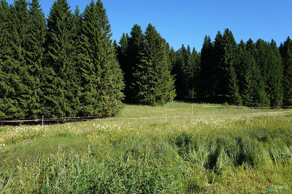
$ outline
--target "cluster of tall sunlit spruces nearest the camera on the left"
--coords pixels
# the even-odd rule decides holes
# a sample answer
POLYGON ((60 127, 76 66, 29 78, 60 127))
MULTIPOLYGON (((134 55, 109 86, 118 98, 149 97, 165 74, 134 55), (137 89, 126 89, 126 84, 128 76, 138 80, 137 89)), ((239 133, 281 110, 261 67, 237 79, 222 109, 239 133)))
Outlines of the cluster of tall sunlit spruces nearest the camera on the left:
POLYGON ((83 13, 57 0, 47 19, 38 0, 1 0, 0 32, 0 120, 112 116, 123 106, 100 0, 83 13))

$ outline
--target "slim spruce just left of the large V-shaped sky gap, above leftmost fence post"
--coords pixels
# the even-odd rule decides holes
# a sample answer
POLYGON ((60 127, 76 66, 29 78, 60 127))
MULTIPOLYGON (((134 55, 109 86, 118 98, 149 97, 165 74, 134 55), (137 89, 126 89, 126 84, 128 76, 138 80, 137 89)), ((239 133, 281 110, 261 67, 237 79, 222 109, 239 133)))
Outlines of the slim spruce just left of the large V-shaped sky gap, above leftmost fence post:
POLYGON ((46 35, 45 14, 39 5, 38 0, 33 0, 29 4, 29 30, 27 38, 27 49, 25 50, 25 60, 27 73, 30 80, 27 82, 29 93, 22 103, 23 109, 28 119, 37 119, 41 116, 41 79, 42 60, 44 59, 44 43, 46 35))

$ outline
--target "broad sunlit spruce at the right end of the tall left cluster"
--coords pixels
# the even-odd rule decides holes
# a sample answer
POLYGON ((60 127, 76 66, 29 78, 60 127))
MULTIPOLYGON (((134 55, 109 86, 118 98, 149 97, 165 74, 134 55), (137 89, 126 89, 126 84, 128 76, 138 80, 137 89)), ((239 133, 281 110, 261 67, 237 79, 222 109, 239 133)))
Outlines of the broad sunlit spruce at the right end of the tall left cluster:
POLYGON ((83 14, 79 48, 83 116, 113 116, 122 107, 123 75, 110 37, 111 27, 100 0, 83 14))

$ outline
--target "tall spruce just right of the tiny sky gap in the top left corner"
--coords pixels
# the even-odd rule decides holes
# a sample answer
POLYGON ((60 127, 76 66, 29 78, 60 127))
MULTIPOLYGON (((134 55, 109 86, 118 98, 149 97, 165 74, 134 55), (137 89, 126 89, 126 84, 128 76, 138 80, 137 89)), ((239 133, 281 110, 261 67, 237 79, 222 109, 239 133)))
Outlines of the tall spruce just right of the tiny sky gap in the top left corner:
POLYGON ((9 93, 6 92, 4 97, 6 118, 10 119, 25 119, 30 116, 25 106, 31 93, 29 85, 33 82, 25 60, 29 32, 27 5, 25 0, 14 1, 8 11, 8 52, 2 68, 6 74, 6 82, 10 85, 9 93))

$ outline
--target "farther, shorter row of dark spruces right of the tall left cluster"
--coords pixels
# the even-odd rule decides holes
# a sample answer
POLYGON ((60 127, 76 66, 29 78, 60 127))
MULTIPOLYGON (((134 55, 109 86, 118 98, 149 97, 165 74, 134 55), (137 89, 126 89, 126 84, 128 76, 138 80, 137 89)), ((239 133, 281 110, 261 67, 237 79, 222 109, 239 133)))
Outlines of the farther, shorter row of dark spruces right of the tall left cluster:
POLYGON ((153 42, 156 46, 149 47, 148 44, 153 39, 148 35, 151 29, 157 34, 151 24, 144 34, 141 27, 135 24, 130 35, 124 33, 121 36, 119 45, 114 42, 118 61, 124 72, 126 102, 153 105, 172 100, 176 96, 176 99, 220 98, 239 106, 292 106, 290 37, 279 47, 273 39, 271 42, 262 39, 253 42, 249 39, 246 43, 243 40, 236 43, 232 32, 227 28, 223 35, 218 31, 214 41, 206 35, 198 53, 195 48, 191 50, 189 45, 187 48, 182 45, 175 51, 164 39, 161 39, 162 44, 153 42), (159 60, 162 59, 160 56, 164 56, 165 63, 160 64, 165 68, 164 76, 170 71, 170 76, 166 76, 168 87, 159 87, 158 84, 146 88, 145 85, 150 86, 162 76, 146 73, 149 69, 156 68, 157 72, 164 72, 158 71, 160 66, 153 66, 158 63, 142 62, 150 56, 151 60, 159 60), (148 92, 144 94, 141 88, 148 92), (159 96, 159 92, 166 92, 166 95, 159 96), (150 99, 147 95, 152 95, 152 101, 143 99, 150 99))

